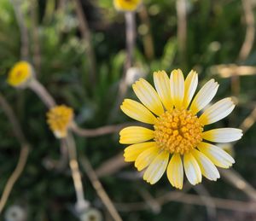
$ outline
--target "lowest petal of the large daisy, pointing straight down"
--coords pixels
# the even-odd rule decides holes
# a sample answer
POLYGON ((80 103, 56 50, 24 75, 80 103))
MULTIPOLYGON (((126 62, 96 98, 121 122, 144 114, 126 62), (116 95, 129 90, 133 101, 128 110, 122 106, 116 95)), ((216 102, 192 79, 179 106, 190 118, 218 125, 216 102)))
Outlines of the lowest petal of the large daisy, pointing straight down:
POLYGON ((183 189, 183 163, 179 154, 173 154, 167 167, 167 177, 172 186, 183 189))

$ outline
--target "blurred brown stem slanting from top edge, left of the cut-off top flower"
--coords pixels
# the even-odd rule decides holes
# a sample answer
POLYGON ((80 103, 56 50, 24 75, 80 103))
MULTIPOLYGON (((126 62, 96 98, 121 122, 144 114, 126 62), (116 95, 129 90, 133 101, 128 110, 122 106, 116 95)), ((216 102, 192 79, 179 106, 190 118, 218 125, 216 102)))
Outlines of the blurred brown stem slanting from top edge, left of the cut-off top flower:
POLYGON ((88 22, 84 15, 83 7, 80 0, 73 0, 75 4, 76 14, 79 20, 79 29, 84 39, 84 44, 86 47, 86 60, 89 61, 90 67, 90 84, 95 84, 96 82, 96 61, 95 61, 95 54, 92 48, 91 39, 90 39, 90 29, 88 26, 88 22))

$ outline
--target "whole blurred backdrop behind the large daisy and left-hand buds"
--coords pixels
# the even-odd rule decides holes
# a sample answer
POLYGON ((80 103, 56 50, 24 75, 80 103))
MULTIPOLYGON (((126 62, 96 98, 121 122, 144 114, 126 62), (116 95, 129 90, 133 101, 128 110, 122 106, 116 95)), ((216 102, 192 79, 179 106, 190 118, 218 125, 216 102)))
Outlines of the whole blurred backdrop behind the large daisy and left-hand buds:
MULTIPOLYGON (((254 0, 144 0, 131 13, 132 23, 112 0, 0 0, 0 92, 30 146, 0 220, 79 220, 68 163, 56 166, 65 153, 49 131, 47 108, 32 90, 6 83, 20 60, 32 64, 58 104, 74 109, 77 125, 117 125, 107 135, 75 133, 74 138, 79 160, 86 156, 90 161, 123 220, 256 220, 255 6, 254 0), (145 183, 124 162, 125 147, 119 144, 119 124, 131 121, 119 102, 134 96, 131 84, 140 77, 152 83, 154 71, 174 68, 185 75, 195 69, 200 86, 216 79, 220 87, 214 101, 233 96, 236 108, 214 127, 244 131, 239 142, 223 147, 235 157, 232 170, 221 171, 217 182, 185 183, 182 191, 173 189, 166 175, 154 186, 145 183)), ((1 196, 20 155, 2 107, 0 128, 1 196)), ((79 162, 86 201, 103 220, 119 220, 110 215, 79 162)))

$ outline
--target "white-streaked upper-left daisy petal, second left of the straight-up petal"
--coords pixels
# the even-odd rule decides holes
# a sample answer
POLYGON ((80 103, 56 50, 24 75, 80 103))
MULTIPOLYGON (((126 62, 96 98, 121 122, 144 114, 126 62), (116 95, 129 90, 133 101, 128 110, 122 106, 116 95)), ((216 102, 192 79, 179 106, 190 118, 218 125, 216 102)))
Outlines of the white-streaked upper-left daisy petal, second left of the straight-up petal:
POLYGON ((156 115, 164 113, 160 97, 148 81, 139 79, 135 84, 132 84, 132 88, 138 99, 140 99, 149 110, 156 115))

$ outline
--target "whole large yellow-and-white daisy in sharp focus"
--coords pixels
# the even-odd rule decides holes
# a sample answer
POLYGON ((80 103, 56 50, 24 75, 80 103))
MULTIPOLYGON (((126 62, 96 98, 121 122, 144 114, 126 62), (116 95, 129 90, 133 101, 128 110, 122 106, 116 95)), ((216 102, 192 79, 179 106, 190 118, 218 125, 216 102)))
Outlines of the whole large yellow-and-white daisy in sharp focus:
POLYGON ((172 186, 182 189, 183 170, 189 183, 195 185, 201 183, 202 175, 217 180, 216 166, 228 168, 235 163, 230 154, 209 142, 233 142, 241 138, 242 131, 204 131, 205 125, 223 119, 235 105, 230 98, 224 98, 206 108, 218 83, 209 80, 192 100, 197 84, 198 76, 193 70, 185 80, 179 69, 172 71, 170 79, 164 71, 155 72, 155 90, 144 79, 132 85, 142 103, 125 99, 121 105, 126 115, 152 126, 129 126, 119 133, 120 143, 131 144, 125 148, 125 161, 135 161, 138 171, 147 168, 143 179, 148 183, 156 183, 166 172, 172 186), (206 109, 199 114, 203 108, 206 109))

